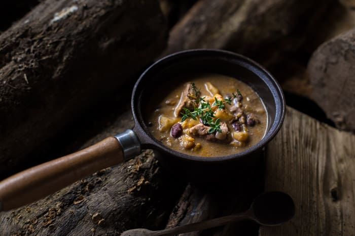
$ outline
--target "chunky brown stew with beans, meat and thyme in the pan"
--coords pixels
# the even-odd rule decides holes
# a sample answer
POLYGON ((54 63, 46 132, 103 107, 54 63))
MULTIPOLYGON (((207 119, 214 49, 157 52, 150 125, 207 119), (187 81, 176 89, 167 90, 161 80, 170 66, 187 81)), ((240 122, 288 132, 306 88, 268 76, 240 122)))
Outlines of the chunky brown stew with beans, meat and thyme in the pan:
POLYGON ((149 129, 165 146, 220 157, 257 144, 267 127, 265 106, 245 83, 219 74, 179 78, 152 92, 149 129))

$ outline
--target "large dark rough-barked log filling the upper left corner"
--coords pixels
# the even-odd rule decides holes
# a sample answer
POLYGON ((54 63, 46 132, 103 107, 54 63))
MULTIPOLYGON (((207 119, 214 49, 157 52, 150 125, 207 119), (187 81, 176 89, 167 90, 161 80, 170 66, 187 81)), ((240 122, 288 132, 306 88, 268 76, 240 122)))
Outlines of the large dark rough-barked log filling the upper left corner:
POLYGON ((165 29, 157 1, 47 0, 0 35, 0 173, 137 76, 165 29))

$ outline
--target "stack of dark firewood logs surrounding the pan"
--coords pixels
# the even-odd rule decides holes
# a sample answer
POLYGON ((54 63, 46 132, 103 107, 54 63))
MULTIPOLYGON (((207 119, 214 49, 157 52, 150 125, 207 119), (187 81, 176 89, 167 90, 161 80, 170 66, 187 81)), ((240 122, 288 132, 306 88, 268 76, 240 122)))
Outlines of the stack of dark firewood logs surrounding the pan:
MULTIPOLYGON (((4 15, 0 25, 1 178, 132 128, 132 81, 155 60, 186 49, 251 57, 286 91, 314 101, 337 128, 355 130, 353 1, 15 2, 6 10, 14 18, 4 15)), ((169 176, 147 150, 0 213, 0 234, 119 235, 172 227, 190 222, 187 208, 201 202, 208 217, 225 212, 233 198, 239 198, 235 211, 245 209, 263 191, 262 176, 250 181, 253 187, 238 185, 247 194, 203 198, 203 190, 169 176)), ((254 224, 239 226, 203 235, 258 233, 250 230, 254 224)))

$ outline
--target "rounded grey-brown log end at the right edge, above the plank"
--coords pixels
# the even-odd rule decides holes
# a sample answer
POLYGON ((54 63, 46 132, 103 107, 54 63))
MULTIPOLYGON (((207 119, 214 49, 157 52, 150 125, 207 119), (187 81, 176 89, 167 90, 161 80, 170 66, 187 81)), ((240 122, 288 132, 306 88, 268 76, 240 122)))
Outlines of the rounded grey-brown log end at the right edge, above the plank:
POLYGON ((314 52, 308 74, 314 100, 338 128, 355 130, 355 29, 325 42, 314 52))

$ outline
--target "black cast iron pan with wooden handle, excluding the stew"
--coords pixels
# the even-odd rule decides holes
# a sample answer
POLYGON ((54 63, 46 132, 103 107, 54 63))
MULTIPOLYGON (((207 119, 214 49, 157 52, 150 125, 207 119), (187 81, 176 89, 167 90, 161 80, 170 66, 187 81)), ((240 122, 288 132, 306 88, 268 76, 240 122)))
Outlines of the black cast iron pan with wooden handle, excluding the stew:
POLYGON ((260 65, 238 54, 221 50, 189 50, 167 56, 149 67, 136 82, 131 100, 135 127, 99 143, 24 170, 0 182, 0 211, 18 208, 52 194, 98 170, 120 164, 140 153, 154 149, 161 165, 184 173, 197 182, 218 181, 250 169, 260 162, 262 148, 275 136, 285 117, 285 100, 275 79, 260 65), (173 151, 150 133, 145 108, 157 84, 176 75, 218 73, 238 78, 250 85, 261 97, 268 114, 267 132, 250 149, 234 155, 203 158, 173 151))

